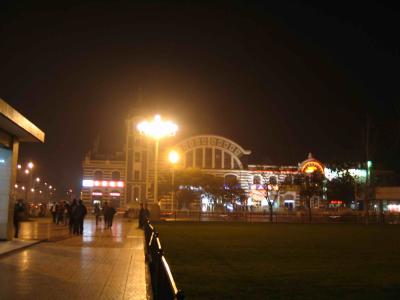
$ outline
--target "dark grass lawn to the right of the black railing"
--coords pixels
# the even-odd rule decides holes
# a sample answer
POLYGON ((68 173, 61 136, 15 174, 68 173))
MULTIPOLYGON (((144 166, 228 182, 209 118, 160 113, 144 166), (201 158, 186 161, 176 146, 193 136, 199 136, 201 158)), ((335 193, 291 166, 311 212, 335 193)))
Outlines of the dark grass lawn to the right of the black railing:
POLYGON ((187 299, 400 299, 400 226, 155 227, 187 299))

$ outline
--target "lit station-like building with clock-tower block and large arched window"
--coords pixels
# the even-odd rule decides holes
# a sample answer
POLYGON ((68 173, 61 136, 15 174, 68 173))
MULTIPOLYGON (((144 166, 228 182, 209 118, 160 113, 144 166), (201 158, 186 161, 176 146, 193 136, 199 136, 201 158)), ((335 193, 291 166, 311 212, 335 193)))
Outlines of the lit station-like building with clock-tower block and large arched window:
MULTIPOLYGON (((120 172, 120 180, 124 183, 124 186, 118 189, 121 193, 118 198, 120 206, 131 207, 141 202, 158 202, 161 209, 171 209, 171 193, 162 194, 157 199, 158 201, 154 199, 154 141, 138 132, 137 124, 143 119, 135 117, 126 120, 126 146, 124 147, 126 151, 123 154, 120 153, 118 160, 88 157, 85 159, 83 178, 87 180, 83 181, 85 200, 94 201, 99 200, 100 197, 102 201, 109 199, 112 192, 109 186, 95 186, 96 180, 99 183, 102 182, 99 178, 96 179, 95 172, 102 171, 103 174, 107 174, 104 180, 114 180, 111 172, 115 170, 120 172), (93 184, 93 186, 85 186, 88 184, 93 184)), ((296 165, 248 164, 251 151, 236 142, 218 135, 196 135, 186 139, 171 137, 160 144, 157 164, 159 182, 171 174, 171 164, 168 161, 168 153, 171 149, 179 152, 180 160, 176 164, 176 169, 196 168, 217 177, 235 177, 247 194, 244 205, 254 210, 268 209, 267 199, 271 197, 275 200, 274 209, 291 210, 304 206, 300 199, 299 186, 293 182, 298 174, 311 174, 318 171, 328 179, 340 176, 313 158, 311 154, 306 160, 296 165), (276 182, 276 184, 269 184, 270 182, 276 182)), ((365 170, 354 168, 349 171, 353 176, 365 177, 365 170)), ((324 197, 316 196, 311 199, 313 208, 323 208, 326 205, 324 197)), ((200 203, 197 203, 197 209, 200 207, 203 210, 212 209, 209 199, 204 195, 200 203)))

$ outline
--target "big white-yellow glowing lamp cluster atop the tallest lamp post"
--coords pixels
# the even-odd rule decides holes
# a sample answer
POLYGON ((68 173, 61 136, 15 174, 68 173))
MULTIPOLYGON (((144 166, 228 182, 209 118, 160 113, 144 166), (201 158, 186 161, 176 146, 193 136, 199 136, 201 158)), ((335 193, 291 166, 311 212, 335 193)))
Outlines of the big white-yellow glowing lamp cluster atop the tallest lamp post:
POLYGON ((165 136, 173 136, 178 131, 178 125, 171 121, 161 120, 160 115, 156 115, 151 122, 143 121, 137 125, 141 134, 159 140, 165 136))

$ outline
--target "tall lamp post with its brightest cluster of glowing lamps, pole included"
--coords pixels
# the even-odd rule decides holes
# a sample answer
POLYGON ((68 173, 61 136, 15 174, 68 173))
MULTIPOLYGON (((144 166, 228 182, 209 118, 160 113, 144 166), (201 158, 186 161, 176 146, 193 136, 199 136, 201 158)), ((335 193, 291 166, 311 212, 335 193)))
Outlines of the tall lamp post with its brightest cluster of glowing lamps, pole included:
POLYGON ((167 136, 174 136, 178 130, 178 125, 171 121, 161 120, 160 115, 156 115, 152 121, 143 121, 137 125, 141 134, 151 137, 155 141, 154 150, 154 202, 158 202, 158 148, 160 139, 167 136))

